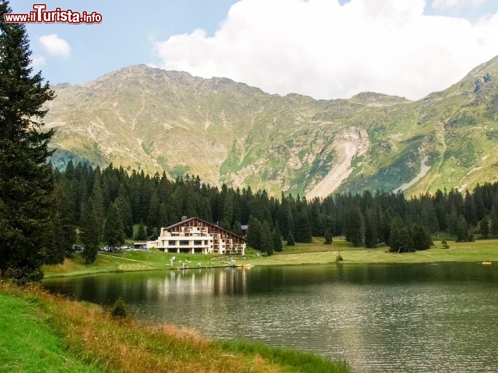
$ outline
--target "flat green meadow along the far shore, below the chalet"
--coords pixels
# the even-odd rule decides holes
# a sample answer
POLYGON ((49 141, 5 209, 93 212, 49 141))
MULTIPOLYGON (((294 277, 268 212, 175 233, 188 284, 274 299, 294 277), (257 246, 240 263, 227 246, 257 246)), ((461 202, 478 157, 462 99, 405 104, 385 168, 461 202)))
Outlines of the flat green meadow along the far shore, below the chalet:
POLYGON ((498 240, 475 242, 448 242, 450 249, 441 249, 439 242, 429 250, 414 253, 389 253, 387 247, 378 249, 354 248, 349 242, 336 237, 332 245, 324 245, 322 237, 313 237, 310 244, 296 244, 284 248, 270 257, 257 256, 248 250, 246 256, 222 256, 202 254, 166 254, 158 250, 122 251, 100 253, 97 261, 85 265, 80 255, 66 259, 64 264, 45 266, 45 277, 81 276, 102 272, 129 272, 142 270, 171 269, 170 258, 176 257, 173 268, 186 266, 220 267, 230 263, 255 266, 329 264, 336 261, 340 253, 343 263, 426 263, 426 262, 498 262, 498 240), (181 262, 180 262, 181 261, 181 262), (187 263, 189 261, 190 263, 187 263), (234 261, 234 262, 231 262, 234 261))

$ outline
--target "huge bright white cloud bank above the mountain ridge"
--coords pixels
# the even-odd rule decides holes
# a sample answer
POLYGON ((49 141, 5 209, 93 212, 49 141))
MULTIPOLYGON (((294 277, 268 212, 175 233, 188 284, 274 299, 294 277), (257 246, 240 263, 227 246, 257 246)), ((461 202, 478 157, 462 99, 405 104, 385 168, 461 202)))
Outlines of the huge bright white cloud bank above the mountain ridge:
POLYGON ((241 0, 215 35, 155 43, 161 68, 315 98, 443 90, 498 54, 498 13, 427 16, 426 0, 241 0))

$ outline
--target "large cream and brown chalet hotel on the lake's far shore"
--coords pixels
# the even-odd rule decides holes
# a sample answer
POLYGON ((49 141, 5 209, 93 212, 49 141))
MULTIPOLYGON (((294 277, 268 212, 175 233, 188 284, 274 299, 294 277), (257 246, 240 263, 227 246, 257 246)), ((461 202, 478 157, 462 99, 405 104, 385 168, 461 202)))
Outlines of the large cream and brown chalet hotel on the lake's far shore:
POLYGON ((147 241, 147 249, 165 253, 239 254, 246 252, 246 240, 226 229, 193 217, 161 228, 157 240, 147 241))

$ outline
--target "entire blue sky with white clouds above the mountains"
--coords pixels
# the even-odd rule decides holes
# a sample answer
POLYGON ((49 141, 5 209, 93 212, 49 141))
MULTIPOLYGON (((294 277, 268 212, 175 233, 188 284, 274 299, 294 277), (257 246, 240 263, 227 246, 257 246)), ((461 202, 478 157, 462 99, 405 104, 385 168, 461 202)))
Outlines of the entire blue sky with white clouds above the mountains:
MULTIPOLYGON (((317 99, 419 99, 498 55, 497 0, 47 0, 99 24, 26 24, 33 67, 79 84, 147 64, 317 99)), ((15 13, 33 1, 14 0, 15 13)))

